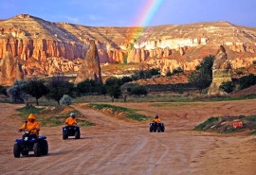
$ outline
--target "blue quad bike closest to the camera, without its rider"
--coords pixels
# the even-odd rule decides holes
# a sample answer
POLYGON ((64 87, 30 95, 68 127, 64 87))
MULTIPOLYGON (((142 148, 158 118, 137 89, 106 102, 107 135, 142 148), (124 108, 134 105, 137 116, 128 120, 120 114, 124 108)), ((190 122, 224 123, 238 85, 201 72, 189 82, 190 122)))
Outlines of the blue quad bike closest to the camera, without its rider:
POLYGON ((13 155, 15 158, 28 155, 29 151, 34 151, 36 157, 48 154, 48 143, 46 136, 36 136, 30 134, 30 131, 24 131, 21 139, 16 139, 13 146, 13 155))

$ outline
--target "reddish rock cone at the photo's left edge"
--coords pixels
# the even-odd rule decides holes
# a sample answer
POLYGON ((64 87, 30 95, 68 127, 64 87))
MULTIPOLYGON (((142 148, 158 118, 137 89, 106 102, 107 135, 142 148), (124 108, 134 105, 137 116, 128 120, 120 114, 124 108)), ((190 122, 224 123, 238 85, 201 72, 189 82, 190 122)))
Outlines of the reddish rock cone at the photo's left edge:
POLYGON ((6 52, 4 59, 0 61, 0 84, 10 86, 16 79, 24 79, 21 63, 6 52))

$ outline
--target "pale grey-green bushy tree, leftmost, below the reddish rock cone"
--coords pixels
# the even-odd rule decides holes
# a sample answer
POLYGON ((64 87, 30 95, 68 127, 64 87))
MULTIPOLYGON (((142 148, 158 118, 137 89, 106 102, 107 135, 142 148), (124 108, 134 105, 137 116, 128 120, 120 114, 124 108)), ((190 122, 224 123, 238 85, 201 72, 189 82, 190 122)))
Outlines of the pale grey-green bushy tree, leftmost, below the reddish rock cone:
POLYGON ((20 103, 28 100, 28 95, 22 91, 22 87, 27 84, 27 80, 15 80, 13 86, 7 89, 10 99, 14 103, 20 103))

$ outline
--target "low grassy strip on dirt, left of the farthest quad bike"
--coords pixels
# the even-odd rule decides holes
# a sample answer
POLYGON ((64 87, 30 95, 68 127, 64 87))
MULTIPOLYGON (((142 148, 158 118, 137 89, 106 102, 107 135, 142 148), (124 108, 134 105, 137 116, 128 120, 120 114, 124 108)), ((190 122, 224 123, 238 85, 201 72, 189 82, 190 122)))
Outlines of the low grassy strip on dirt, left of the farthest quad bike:
POLYGON ((127 118, 137 120, 137 121, 145 121, 150 117, 144 114, 137 114, 137 110, 130 108, 123 108, 119 106, 109 105, 109 104, 98 104, 98 103, 90 103, 89 107, 101 110, 104 113, 113 114, 113 115, 123 115, 127 118))

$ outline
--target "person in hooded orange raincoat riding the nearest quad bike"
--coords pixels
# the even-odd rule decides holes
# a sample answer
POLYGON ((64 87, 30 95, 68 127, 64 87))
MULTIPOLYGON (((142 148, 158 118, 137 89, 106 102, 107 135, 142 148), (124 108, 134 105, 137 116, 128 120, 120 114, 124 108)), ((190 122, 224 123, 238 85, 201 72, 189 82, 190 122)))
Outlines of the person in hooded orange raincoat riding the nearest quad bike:
POLYGON ((19 131, 30 131, 30 134, 35 134, 38 137, 39 131, 40 131, 40 125, 36 120, 34 114, 28 115, 27 121, 25 122, 25 124, 22 125, 19 131))

